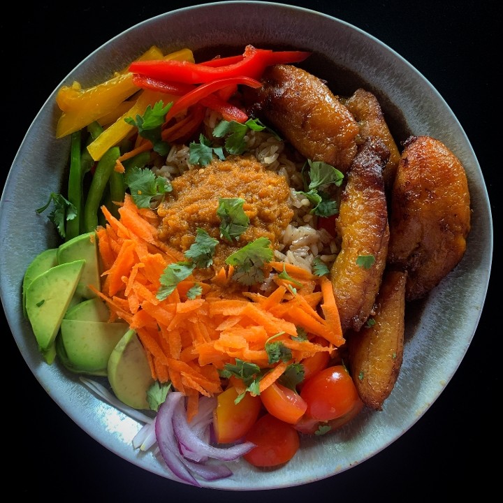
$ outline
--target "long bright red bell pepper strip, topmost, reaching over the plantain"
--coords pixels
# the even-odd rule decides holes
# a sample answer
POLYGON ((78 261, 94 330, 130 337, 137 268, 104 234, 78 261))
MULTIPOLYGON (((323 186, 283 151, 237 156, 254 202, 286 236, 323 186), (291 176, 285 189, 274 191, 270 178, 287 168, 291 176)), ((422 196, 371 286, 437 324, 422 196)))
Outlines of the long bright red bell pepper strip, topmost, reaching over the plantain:
POLYGON ((133 61, 129 65, 131 73, 140 73, 159 80, 201 84, 223 78, 242 77, 258 79, 267 66, 273 64, 290 64, 304 61, 311 52, 305 51, 272 51, 256 49, 247 45, 240 61, 224 66, 209 66, 191 63, 190 61, 152 60, 133 61))

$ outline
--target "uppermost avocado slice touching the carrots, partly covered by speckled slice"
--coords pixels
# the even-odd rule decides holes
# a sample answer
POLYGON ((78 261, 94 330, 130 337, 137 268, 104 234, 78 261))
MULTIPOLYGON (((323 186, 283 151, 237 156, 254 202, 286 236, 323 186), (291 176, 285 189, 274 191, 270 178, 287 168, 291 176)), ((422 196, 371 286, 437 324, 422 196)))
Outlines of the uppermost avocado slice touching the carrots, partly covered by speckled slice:
POLYGON ((85 260, 84 270, 75 293, 85 299, 96 296, 89 285, 100 290, 100 271, 98 259, 98 238, 96 233, 89 232, 75 236, 75 238, 59 245, 57 249, 57 261, 59 264, 72 262, 83 258, 85 260))

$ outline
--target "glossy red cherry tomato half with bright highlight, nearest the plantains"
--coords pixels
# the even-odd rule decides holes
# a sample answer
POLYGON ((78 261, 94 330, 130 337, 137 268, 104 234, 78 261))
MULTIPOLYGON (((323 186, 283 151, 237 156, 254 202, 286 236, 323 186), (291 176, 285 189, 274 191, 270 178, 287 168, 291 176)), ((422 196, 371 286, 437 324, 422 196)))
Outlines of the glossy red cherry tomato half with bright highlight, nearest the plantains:
POLYGON ((315 374, 302 386, 300 396, 307 402, 306 416, 319 421, 344 416, 360 400, 344 365, 333 365, 315 374))

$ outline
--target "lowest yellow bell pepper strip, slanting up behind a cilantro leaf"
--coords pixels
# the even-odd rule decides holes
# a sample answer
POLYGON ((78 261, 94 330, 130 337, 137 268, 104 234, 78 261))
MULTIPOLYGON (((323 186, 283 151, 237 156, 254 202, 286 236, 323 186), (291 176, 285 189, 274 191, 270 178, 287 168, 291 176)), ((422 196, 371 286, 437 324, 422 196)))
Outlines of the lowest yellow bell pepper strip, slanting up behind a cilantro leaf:
POLYGON ((120 143, 124 138, 130 136, 135 127, 128 124, 125 119, 136 118, 136 115, 145 114, 147 106, 153 106, 157 101, 163 100, 165 103, 173 101, 173 96, 166 100, 166 94, 154 91, 142 91, 136 103, 110 127, 105 129, 101 135, 87 146, 89 154, 95 161, 99 161, 105 152, 120 143))

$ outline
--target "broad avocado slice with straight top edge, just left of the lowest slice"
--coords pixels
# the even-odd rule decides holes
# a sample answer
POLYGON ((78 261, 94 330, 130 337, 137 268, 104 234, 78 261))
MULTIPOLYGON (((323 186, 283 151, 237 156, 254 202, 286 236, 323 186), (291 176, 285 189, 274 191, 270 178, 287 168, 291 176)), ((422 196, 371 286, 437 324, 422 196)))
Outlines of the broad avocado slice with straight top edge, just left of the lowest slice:
POLYGON ((108 359, 113 349, 129 330, 123 322, 61 320, 61 344, 65 366, 73 372, 107 375, 108 359))

